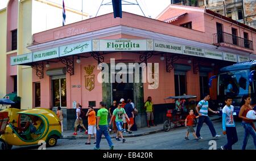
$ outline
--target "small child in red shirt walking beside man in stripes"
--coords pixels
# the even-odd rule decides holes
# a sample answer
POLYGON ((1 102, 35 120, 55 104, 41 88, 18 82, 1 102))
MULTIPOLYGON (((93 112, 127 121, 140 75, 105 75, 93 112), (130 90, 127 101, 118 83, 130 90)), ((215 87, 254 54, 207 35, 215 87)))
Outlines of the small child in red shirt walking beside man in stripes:
POLYGON ((185 120, 185 126, 188 127, 188 130, 187 130, 187 133, 186 133, 186 136, 185 136, 185 140, 189 140, 189 138, 188 138, 188 134, 189 134, 189 133, 192 133, 193 136, 196 138, 196 140, 199 140, 199 138, 197 138, 196 132, 195 132, 195 130, 194 130, 194 128, 193 128, 194 119, 195 119, 195 118, 198 118, 198 117, 199 117, 199 116, 194 115, 193 109, 191 109, 191 110, 189 111, 189 115, 187 116, 187 118, 186 118, 186 120, 185 120))

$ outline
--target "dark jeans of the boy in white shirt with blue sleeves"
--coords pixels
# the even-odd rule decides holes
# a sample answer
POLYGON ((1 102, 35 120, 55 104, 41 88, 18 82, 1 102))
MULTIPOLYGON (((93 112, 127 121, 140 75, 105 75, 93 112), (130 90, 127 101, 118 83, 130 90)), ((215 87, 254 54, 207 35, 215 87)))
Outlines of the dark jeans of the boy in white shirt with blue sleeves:
POLYGON ((226 138, 228 139, 228 143, 224 145, 224 148, 232 150, 232 145, 238 141, 236 127, 226 127, 226 138))

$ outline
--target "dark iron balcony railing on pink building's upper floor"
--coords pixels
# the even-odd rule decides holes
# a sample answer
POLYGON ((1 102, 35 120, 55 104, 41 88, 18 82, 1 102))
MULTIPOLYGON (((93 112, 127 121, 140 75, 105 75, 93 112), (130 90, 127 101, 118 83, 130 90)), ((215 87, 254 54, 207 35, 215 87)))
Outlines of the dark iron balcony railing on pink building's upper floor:
POLYGON ((253 50, 253 41, 226 32, 214 33, 214 44, 226 43, 253 50))

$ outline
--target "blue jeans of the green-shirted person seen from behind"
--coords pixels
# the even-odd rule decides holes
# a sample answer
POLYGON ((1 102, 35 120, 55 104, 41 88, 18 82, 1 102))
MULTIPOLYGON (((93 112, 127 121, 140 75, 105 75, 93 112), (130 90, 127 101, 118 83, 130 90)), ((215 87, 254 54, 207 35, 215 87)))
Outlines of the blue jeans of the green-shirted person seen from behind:
POLYGON ((109 147, 111 147, 113 145, 113 143, 112 143, 111 138, 109 136, 108 125, 99 125, 98 127, 100 128, 100 130, 97 129, 97 132, 96 132, 96 147, 98 149, 100 149, 102 134, 104 134, 106 140, 108 141, 109 147))

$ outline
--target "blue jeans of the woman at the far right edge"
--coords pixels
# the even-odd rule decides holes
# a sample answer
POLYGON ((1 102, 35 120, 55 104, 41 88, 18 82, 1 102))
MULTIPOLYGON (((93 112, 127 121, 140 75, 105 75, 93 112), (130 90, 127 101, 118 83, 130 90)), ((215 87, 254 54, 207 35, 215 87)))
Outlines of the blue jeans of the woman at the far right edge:
POLYGON ((256 149, 256 133, 250 123, 242 122, 243 128, 245 128, 245 137, 243 138, 242 150, 245 150, 249 136, 253 137, 254 146, 256 149))

